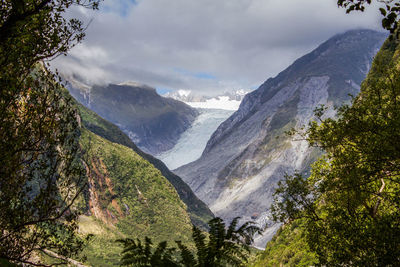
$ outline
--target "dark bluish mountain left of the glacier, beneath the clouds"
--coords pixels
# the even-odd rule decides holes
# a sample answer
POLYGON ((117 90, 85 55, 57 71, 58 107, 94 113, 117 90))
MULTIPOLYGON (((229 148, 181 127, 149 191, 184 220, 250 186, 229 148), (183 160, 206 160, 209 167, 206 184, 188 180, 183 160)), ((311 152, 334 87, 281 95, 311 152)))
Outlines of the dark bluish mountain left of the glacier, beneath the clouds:
POLYGON ((140 149, 152 155, 171 149, 198 115, 194 108, 161 97, 146 85, 80 85, 71 83, 67 87, 80 103, 116 124, 140 149))

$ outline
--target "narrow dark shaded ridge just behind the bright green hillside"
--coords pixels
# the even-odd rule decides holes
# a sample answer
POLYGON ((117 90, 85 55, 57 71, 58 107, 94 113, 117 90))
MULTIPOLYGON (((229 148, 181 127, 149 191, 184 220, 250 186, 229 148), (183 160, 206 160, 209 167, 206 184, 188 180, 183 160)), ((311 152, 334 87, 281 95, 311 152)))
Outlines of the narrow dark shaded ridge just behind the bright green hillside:
POLYGON ((168 179, 168 181, 175 187, 179 197, 186 204, 193 224, 205 227, 207 222, 214 217, 207 205, 193 193, 190 187, 183 182, 179 176, 171 172, 161 160, 140 150, 116 125, 101 118, 95 112, 81 104, 78 104, 78 107, 82 118, 82 124, 86 129, 112 143, 131 148, 140 157, 151 163, 165 178, 168 179))

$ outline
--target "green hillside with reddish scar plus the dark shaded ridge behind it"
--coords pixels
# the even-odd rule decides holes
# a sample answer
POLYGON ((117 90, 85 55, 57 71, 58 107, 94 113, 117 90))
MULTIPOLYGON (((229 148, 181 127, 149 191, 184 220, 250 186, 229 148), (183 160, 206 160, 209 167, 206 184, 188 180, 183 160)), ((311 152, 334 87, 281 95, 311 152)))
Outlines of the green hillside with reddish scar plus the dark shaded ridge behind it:
POLYGON ((191 247, 192 222, 204 226, 213 218, 207 206, 117 126, 83 105, 77 107, 88 179, 88 189, 76 203, 84 213, 79 231, 93 234, 84 251, 87 263, 118 265, 122 250, 115 242, 118 238, 182 240, 191 247))

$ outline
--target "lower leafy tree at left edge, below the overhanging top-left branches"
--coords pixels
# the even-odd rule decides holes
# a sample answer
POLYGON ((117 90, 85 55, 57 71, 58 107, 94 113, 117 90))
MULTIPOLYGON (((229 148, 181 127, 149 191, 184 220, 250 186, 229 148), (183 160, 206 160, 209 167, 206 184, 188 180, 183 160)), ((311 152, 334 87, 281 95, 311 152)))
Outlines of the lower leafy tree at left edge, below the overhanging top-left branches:
POLYGON ((70 257, 84 244, 72 207, 85 186, 77 113, 43 68, 22 86, 30 87, 0 119, 0 258, 70 257))

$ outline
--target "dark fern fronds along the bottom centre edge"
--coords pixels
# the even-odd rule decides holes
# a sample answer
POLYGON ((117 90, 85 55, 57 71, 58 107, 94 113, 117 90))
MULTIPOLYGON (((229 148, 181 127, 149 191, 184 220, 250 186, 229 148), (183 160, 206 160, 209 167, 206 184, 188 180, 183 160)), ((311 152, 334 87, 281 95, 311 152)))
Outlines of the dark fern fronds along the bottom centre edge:
POLYGON ((167 242, 158 244, 152 250, 152 243, 146 237, 144 246, 140 240, 122 239, 124 245, 121 265, 123 266, 185 266, 217 267, 245 266, 250 252, 253 236, 261 230, 253 222, 246 222, 237 228, 239 217, 233 219, 228 228, 220 218, 209 221, 209 233, 206 236, 196 226, 192 237, 196 245, 196 255, 180 241, 176 248, 167 247, 167 242), (178 255, 179 254, 179 257, 178 255))

